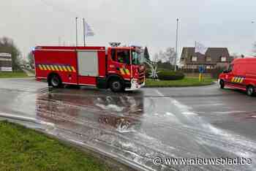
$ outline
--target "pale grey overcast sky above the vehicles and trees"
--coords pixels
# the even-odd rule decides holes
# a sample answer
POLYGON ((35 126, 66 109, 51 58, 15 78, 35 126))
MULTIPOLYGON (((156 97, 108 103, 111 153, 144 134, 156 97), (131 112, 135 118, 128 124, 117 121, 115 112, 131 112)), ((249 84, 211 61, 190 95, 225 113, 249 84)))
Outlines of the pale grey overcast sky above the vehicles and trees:
POLYGON ((0 37, 14 39, 23 54, 36 45, 75 45, 78 16, 94 29, 88 45, 148 46, 153 55, 175 47, 176 18, 181 20, 178 51, 194 46, 228 47, 249 54, 256 38, 255 0, 8 0, 1 1, 0 37))

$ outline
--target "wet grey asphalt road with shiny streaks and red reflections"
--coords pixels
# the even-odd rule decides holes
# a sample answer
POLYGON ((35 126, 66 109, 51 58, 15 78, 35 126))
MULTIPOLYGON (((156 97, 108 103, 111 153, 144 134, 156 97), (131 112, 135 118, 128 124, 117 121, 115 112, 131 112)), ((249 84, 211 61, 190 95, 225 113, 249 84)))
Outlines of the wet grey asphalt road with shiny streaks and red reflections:
POLYGON ((0 79, 0 116, 52 123, 45 129, 49 134, 143 170, 255 170, 255 100, 217 85, 113 94, 94 88, 53 90, 31 78, 0 79), (252 164, 156 166, 157 156, 244 157, 252 164))

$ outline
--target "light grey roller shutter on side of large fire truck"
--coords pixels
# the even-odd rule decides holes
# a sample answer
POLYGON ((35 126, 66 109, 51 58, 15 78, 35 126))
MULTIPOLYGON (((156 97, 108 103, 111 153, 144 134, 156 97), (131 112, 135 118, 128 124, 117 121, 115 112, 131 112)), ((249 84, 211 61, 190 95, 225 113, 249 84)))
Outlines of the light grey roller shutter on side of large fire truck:
POLYGON ((78 51, 78 70, 80 76, 97 77, 99 75, 97 51, 78 51))

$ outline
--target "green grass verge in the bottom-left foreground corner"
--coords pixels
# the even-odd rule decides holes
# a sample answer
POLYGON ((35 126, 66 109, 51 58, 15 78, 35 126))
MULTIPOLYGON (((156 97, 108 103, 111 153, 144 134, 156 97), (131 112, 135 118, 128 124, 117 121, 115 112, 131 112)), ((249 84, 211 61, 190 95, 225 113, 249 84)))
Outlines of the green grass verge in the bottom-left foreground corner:
POLYGON ((0 121, 0 170, 110 170, 99 159, 45 134, 0 121))

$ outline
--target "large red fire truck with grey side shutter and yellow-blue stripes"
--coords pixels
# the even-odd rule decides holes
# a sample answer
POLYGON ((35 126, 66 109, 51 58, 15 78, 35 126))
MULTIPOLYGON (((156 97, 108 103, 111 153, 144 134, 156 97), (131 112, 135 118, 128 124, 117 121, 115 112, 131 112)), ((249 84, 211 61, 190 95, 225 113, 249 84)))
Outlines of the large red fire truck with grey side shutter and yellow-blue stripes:
POLYGON ((138 47, 34 48, 37 80, 48 85, 95 86, 114 92, 135 90, 145 84, 145 66, 138 47))

